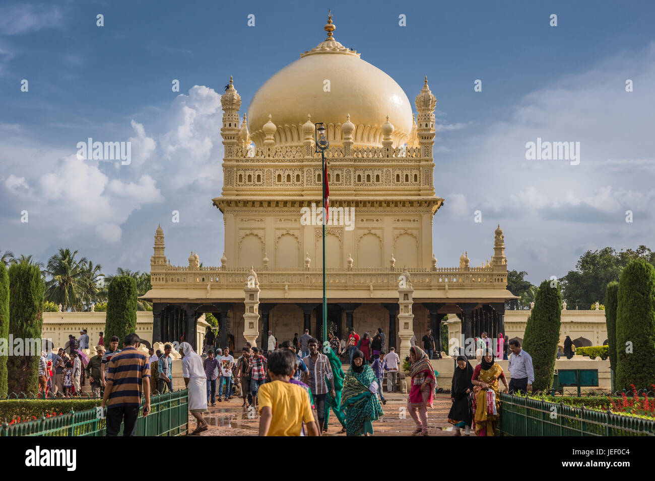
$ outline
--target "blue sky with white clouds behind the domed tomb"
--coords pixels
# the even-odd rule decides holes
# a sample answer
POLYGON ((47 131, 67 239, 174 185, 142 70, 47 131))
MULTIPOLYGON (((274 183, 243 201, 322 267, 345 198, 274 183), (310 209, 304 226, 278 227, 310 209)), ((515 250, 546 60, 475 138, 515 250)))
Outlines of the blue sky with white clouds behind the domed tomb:
POLYGON ((324 40, 328 8, 337 41, 412 105, 428 76, 438 266, 486 262, 497 224, 508 268, 535 284, 589 249, 655 249, 652 1, 5 1, 0 251, 47 262, 69 247, 105 274, 149 272, 160 223, 172 264, 193 250, 220 265, 223 86, 233 75, 246 112, 324 40), (88 137, 130 141, 132 163, 79 160, 88 137), (527 159, 538 138, 579 142, 579 163, 527 159))

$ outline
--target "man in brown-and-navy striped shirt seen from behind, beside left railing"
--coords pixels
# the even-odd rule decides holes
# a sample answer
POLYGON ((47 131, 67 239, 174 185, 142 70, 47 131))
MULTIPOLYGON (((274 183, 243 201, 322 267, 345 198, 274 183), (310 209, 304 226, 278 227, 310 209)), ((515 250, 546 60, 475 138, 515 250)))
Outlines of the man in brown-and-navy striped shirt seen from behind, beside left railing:
POLYGON ((107 436, 117 436, 124 423, 123 436, 134 436, 136 419, 145 394, 143 416, 150 412, 150 363, 148 355, 136 349, 139 336, 128 334, 121 352, 113 355, 105 379, 102 408, 107 406, 107 436))

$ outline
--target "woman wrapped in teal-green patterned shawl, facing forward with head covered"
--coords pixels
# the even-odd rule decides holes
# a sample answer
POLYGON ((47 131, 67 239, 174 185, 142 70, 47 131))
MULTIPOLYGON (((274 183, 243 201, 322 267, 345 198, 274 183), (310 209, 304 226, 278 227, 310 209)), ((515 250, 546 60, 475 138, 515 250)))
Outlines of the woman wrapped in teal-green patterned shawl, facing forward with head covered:
POLYGON ((341 392, 341 410, 346 416, 346 436, 373 435, 373 421, 383 416, 377 399, 377 379, 364 353, 356 351, 341 392))

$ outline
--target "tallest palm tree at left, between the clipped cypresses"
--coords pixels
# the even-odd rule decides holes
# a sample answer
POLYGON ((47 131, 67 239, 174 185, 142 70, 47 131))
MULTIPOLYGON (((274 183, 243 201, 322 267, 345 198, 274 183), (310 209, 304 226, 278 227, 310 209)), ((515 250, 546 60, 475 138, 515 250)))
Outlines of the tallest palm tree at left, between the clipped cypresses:
POLYGON ((75 259, 79 251, 59 249, 58 253, 50 257, 45 272, 50 276, 47 282, 46 300, 55 304, 62 304, 64 310, 82 307, 84 290, 82 276, 86 266, 86 257, 75 259))

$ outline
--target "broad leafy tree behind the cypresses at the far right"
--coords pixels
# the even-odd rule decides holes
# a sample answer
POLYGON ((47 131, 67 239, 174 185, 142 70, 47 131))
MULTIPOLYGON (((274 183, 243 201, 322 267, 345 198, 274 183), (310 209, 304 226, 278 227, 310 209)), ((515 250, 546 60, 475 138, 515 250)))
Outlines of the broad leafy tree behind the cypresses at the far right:
POLYGON ((636 250, 619 252, 612 247, 587 251, 578 259, 576 270, 569 271, 569 274, 560 279, 564 300, 569 306, 591 306, 596 301, 605 304, 607 284, 618 281, 621 271, 635 258, 643 258, 655 265, 655 252, 645 245, 640 245, 636 250))

